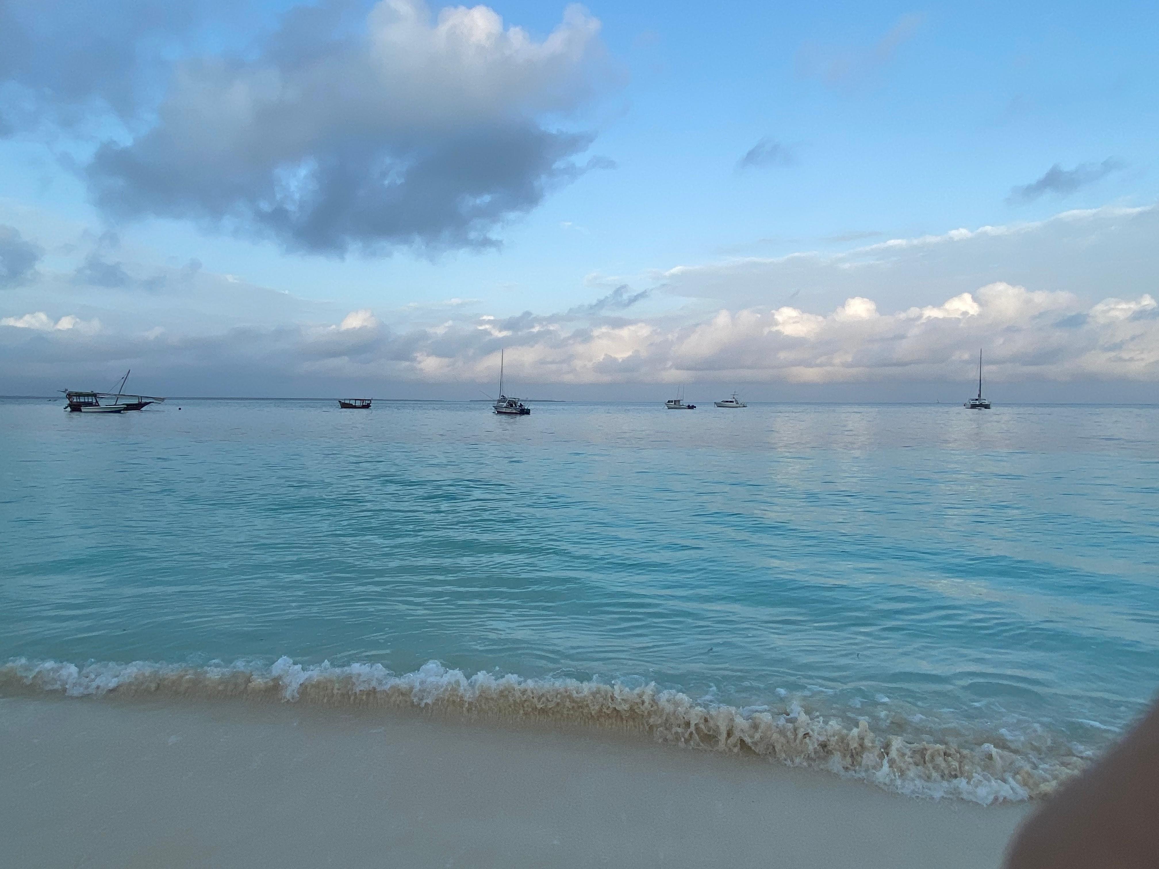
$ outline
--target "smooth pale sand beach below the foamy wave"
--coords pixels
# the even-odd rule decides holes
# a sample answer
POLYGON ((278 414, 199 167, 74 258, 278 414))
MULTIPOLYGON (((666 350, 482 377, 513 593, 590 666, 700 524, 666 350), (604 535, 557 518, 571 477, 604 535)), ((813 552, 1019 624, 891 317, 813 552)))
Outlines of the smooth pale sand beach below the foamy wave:
POLYGON ((0 699, 3 867, 993 868, 1026 811, 600 731, 0 699))

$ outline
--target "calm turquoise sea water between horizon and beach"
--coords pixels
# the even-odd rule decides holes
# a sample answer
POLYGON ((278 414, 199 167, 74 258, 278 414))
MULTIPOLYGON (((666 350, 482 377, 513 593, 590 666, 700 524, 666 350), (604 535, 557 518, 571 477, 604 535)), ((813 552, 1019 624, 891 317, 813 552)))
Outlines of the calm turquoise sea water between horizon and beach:
POLYGON ((1049 788, 1156 691, 1159 408, 533 408, 0 402, 9 682, 654 684, 734 730, 1006 752, 971 798, 1049 788))

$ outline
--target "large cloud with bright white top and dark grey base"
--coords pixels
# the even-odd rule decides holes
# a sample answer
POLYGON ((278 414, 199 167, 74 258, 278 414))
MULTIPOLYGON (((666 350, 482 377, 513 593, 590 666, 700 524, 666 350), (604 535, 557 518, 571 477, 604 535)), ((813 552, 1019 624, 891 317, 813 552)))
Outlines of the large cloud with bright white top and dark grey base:
POLYGON ((287 13, 260 50, 187 58, 90 191, 118 218, 191 219, 327 255, 487 248, 591 168, 560 126, 606 83, 599 22, 567 7, 535 39, 490 8, 337 0, 287 13))

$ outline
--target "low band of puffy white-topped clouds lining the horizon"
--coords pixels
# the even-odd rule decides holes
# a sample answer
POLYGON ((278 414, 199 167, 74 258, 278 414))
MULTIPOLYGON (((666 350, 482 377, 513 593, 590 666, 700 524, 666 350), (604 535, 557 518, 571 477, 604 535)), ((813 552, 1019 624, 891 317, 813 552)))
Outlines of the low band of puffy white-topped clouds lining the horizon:
POLYGON ((1159 305, 1150 294, 1084 304, 1071 293, 993 283, 940 302, 882 313, 866 297, 828 313, 797 307, 721 308, 685 323, 596 322, 568 315, 479 317, 398 333, 365 311, 338 326, 233 329, 189 336, 81 335, 65 319, 20 317, 0 329, 0 362, 65 377, 116 359, 203 382, 491 379, 501 349, 509 373, 555 384, 863 384, 962 380, 984 348, 991 382, 1159 384, 1159 305), (1062 323, 1070 320, 1065 326, 1062 323), (345 328, 342 328, 345 326, 345 328), (34 342, 22 334, 46 339, 34 342), (68 335, 70 331, 76 333, 68 335), (67 342, 64 344, 61 342, 67 342), (80 342, 80 343, 78 343, 80 342))

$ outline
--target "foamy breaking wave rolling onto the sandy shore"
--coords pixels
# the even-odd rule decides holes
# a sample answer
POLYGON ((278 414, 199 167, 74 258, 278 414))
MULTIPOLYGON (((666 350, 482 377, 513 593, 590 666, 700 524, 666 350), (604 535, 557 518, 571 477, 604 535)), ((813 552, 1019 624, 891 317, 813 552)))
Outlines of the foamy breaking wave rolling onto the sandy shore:
POLYGON ((136 662, 78 667, 16 658, 0 665, 0 694, 49 692, 67 696, 240 698, 336 707, 418 708, 500 720, 547 720, 611 726, 677 745, 746 753, 789 766, 828 769, 912 796, 977 803, 1021 802, 1051 794, 1077 774, 1076 753, 1036 757, 991 742, 953 745, 877 735, 825 720, 793 703, 782 713, 706 706, 655 685, 627 687, 575 679, 467 677, 431 662, 413 673, 379 664, 302 666, 184 666, 136 662))

